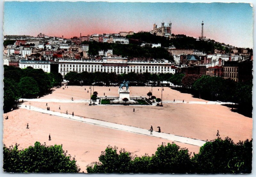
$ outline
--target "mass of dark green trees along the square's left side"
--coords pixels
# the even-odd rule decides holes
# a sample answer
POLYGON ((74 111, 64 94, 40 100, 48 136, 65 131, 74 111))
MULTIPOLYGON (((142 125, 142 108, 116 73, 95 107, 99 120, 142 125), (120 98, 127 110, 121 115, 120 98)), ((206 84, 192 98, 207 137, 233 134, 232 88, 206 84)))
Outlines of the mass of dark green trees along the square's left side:
POLYGON ((60 73, 45 73, 42 69, 21 69, 4 65, 4 112, 12 109, 19 98, 33 98, 51 92, 63 81, 60 73))

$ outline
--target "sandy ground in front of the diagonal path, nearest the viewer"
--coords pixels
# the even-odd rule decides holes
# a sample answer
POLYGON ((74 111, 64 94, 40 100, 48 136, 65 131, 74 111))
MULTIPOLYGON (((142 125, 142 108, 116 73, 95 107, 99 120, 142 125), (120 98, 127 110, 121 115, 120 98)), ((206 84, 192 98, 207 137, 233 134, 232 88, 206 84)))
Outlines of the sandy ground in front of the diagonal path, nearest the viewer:
MULTIPOLYGON (((154 154, 162 142, 172 142, 162 138, 129 133, 125 131, 89 125, 79 121, 63 119, 25 109, 18 109, 8 114, 4 119, 4 144, 6 146, 20 144, 27 148, 36 141, 46 142, 46 145, 63 144, 63 150, 68 150, 72 157, 76 156, 77 164, 82 171, 86 165, 99 161, 101 151, 108 145, 124 148, 133 155, 154 154), (26 129, 27 123, 29 129, 26 129), (51 141, 48 136, 51 134, 51 141)), ((198 152, 198 146, 175 142, 186 147, 190 152, 198 152)))

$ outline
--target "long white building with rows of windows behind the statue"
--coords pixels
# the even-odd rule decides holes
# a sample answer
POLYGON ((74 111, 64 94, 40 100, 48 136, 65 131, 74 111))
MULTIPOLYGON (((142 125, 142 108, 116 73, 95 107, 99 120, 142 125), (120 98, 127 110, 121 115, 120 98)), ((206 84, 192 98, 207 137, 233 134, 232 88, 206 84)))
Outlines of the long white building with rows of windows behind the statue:
POLYGON ((103 58, 102 60, 59 60, 59 73, 65 76, 70 71, 82 73, 176 73, 172 63, 165 61, 128 61, 127 58, 103 58))

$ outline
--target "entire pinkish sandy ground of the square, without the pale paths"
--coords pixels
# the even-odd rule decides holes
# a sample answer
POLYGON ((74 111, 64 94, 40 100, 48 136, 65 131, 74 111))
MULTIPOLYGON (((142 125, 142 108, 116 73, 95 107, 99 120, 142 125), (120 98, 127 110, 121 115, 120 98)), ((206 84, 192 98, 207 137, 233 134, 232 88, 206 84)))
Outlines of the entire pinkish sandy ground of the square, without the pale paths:
MULTIPOLYGON (((74 100, 90 99, 88 86, 68 86, 63 90, 56 89, 52 94, 39 99, 66 99, 74 100), (86 91, 84 90, 86 88, 86 91)), ((118 96, 117 87, 94 87, 98 96, 118 96), (110 88, 110 91, 109 91, 110 88)), ((147 96, 151 87, 131 87, 130 96, 147 96)), ((153 95, 161 98, 161 88, 153 87, 153 95)), ((205 101, 193 98, 190 94, 180 93, 171 88, 164 88, 163 100, 169 101, 205 101)), ((207 101, 206 101, 207 102, 207 101)), ((46 109, 45 102, 24 102, 23 104, 46 109)), ((212 140, 216 138, 217 130, 220 137, 229 136, 238 142, 252 138, 252 119, 230 108, 214 104, 164 104, 157 106, 122 106, 122 105, 96 105, 88 106, 88 103, 52 103, 47 102, 51 111, 64 112, 91 119, 99 119, 149 129, 152 125, 156 131, 158 126, 164 133, 180 135, 199 140, 212 140), (59 110, 59 106, 61 110, 59 110), (135 112, 133 112, 135 108, 135 112)), ((5 116, 5 114, 4 114, 5 116)), ((86 165, 98 161, 101 151, 108 144, 125 148, 136 155, 155 153, 158 144, 171 142, 166 139, 129 133, 96 125, 89 125, 75 120, 63 119, 39 112, 17 109, 8 113, 9 119, 4 119, 4 143, 9 146, 16 142, 22 148, 33 145, 34 142, 46 142, 47 145, 63 144, 63 149, 76 155, 77 164, 81 171, 85 171, 86 165), (29 129, 26 125, 29 123, 29 129), (52 141, 48 141, 51 133, 52 141)), ((184 143, 177 143, 181 147, 188 148, 191 152, 198 152, 199 147, 184 143)))

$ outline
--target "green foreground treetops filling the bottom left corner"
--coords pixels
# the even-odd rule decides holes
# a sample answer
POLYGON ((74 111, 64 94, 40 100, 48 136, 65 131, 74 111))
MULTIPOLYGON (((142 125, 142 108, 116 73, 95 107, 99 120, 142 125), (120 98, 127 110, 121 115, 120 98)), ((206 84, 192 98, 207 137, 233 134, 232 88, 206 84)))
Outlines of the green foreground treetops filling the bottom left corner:
POLYGON ((46 146, 35 142, 34 146, 18 150, 19 145, 4 145, 4 172, 12 173, 77 173, 80 171, 75 158, 67 156, 62 145, 46 146))

